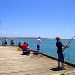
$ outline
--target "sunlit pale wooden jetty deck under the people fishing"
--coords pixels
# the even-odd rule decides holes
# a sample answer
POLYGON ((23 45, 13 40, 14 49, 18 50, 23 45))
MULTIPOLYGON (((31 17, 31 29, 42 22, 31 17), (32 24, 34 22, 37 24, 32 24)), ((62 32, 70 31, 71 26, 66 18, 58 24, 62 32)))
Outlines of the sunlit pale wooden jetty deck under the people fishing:
POLYGON ((0 46, 0 75, 75 75, 75 66, 65 63, 65 70, 58 71, 57 60, 33 51, 21 54, 16 46, 0 46))

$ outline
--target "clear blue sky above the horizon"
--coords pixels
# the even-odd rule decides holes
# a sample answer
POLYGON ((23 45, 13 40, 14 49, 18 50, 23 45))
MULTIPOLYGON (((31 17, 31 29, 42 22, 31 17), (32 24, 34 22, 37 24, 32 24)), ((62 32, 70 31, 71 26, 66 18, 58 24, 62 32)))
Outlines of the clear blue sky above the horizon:
POLYGON ((0 36, 72 38, 75 0, 0 0, 0 36))

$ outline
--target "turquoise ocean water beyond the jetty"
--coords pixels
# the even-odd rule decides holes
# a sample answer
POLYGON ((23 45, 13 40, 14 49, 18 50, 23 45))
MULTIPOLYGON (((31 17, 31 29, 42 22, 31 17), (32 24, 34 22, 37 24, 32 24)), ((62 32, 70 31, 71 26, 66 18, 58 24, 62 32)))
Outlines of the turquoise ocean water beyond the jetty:
MULTIPOLYGON (((2 45, 3 40, 4 40, 3 38, 0 38, 0 45, 2 45)), ((7 41, 8 41, 8 45, 10 45, 10 38, 7 38, 7 41)), ((61 39, 61 42, 63 44, 67 44, 69 41, 70 41, 70 39, 61 39)), ((37 47, 36 39, 14 38, 15 45, 18 45, 19 42, 21 42, 21 43, 27 42, 31 49, 36 50, 36 47, 37 47)), ((42 39, 40 52, 54 56, 55 58, 57 58, 56 40, 55 39, 42 39)), ((66 48, 64 50, 64 58, 66 61, 69 61, 69 62, 75 64, 75 39, 73 39, 70 42, 69 48, 66 48)))

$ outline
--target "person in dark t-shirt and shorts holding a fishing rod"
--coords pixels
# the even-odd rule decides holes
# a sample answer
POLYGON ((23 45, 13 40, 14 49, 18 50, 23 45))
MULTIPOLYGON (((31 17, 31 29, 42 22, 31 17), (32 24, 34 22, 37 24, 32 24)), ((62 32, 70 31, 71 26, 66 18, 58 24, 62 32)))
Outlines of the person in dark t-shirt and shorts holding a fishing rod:
POLYGON ((56 46, 57 46, 57 54, 58 54, 58 69, 63 70, 64 68, 64 55, 62 52, 62 47, 67 48, 68 45, 63 45, 60 41, 60 37, 56 37, 56 46))

